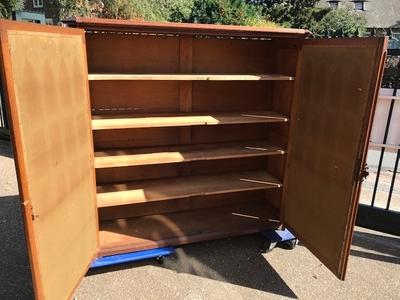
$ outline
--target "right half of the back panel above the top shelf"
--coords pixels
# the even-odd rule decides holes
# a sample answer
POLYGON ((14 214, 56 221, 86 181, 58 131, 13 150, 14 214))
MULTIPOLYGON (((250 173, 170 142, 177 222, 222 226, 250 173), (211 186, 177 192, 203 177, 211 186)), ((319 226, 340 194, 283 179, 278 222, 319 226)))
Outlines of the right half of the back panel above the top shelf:
POLYGON ((271 41, 193 39, 194 73, 270 73, 274 67, 271 41))

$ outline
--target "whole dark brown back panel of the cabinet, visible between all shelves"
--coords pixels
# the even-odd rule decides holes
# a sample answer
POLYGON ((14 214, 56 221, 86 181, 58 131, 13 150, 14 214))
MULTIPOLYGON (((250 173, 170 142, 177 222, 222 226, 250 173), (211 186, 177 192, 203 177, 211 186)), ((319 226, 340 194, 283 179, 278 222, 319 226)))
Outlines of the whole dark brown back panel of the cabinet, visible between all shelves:
MULTIPOLYGON (((292 52, 282 52, 277 56, 273 41, 266 40, 91 34, 87 43, 90 72, 144 74, 281 72, 284 75, 293 75, 295 69, 295 66, 290 69, 289 63, 285 64, 285 56, 292 52), (93 53, 95 49, 100 53, 93 53), (282 66, 278 67, 280 63, 282 66)), ((102 113, 113 109, 129 110, 130 113, 267 109, 289 115, 291 102, 286 97, 291 97, 292 84, 292 82, 270 81, 98 81, 91 82, 90 92, 92 109, 95 111, 103 109, 102 113)), ((280 136, 286 134, 285 125, 240 124, 100 130, 94 131, 93 136, 95 149, 103 150, 267 139, 272 139, 277 145, 286 146, 287 138, 280 136), (272 126, 271 129, 269 126, 272 126)), ((284 156, 242 157, 115 167, 96 170, 96 178, 97 184, 101 185, 260 169, 282 178, 281 167, 284 165, 284 159, 284 156)), ((264 190, 224 193, 100 208, 99 215, 100 220, 112 220, 252 201, 266 201, 272 207, 278 208, 280 196, 280 191, 264 190)))

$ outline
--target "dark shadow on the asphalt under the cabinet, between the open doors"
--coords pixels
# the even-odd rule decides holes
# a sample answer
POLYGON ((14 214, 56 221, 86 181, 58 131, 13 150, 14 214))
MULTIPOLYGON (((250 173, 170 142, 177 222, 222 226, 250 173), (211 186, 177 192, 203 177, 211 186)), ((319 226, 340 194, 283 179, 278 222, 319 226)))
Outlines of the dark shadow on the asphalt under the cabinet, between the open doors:
POLYGON ((279 296, 297 298, 285 281, 262 256, 258 235, 248 235, 190 244, 176 249, 175 257, 158 264, 154 260, 124 264, 90 271, 88 275, 112 272, 146 264, 178 273, 257 289, 279 296))

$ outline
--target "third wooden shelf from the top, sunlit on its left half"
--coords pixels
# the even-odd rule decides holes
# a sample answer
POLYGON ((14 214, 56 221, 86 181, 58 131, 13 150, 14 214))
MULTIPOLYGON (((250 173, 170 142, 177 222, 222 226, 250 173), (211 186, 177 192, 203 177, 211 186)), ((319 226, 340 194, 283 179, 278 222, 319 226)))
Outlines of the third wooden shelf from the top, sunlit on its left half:
POLYGON ((285 154, 264 141, 120 149, 95 152, 96 169, 285 154))

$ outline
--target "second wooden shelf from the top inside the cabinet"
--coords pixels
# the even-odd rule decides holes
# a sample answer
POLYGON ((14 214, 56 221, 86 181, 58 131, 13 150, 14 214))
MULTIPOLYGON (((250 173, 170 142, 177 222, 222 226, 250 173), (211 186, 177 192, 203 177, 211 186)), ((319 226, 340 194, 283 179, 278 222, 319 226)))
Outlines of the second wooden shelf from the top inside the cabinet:
POLYGON ((105 130, 288 121, 288 117, 270 111, 94 115, 92 117, 92 129, 105 130))

